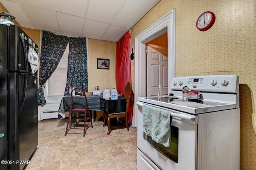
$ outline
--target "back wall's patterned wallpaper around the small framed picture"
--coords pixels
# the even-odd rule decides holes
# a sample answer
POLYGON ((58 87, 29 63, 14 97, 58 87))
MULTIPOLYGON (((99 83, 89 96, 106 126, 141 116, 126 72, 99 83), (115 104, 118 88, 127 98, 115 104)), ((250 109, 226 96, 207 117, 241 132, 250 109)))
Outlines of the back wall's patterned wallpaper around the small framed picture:
POLYGON ((99 86, 101 91, 106 87, 111 91, 116 87, 116 44, 89 39, 88 45, 88 92, 95 86, 99 86), (97 69, 97 58, 110 59, 109 70, 97 69))

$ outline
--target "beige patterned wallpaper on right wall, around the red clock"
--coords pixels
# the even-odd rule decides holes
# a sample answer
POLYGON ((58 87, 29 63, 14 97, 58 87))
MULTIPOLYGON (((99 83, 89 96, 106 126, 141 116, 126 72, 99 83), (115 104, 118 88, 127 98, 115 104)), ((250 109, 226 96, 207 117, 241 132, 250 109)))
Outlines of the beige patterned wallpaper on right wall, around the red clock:
MULTIPOLYGON (((255 170, 256 1, 161 0, 132 27, 131 48, 139 33, 173 8, 176 8, 176 76, 240 76, 240 169, 255 170), (208 31, 199 31, 196 19, 205 11, 214 12, 216 20, 208 31)), ((135 74, 136 70, 132 70, 133 87, 135 74)))

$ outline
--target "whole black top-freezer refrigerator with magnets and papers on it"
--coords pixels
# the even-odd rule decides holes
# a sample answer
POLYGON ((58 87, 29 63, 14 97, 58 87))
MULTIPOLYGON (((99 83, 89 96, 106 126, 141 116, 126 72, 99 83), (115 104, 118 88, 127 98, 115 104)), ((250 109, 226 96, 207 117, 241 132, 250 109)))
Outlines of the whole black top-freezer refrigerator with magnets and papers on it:
POLYGON ((0 24, 0 170, 22 170, 38 145, 37 72, 28 47, 38 46, 16 25, 0 24), (6 161, 7 162, 7 161, 6 161))

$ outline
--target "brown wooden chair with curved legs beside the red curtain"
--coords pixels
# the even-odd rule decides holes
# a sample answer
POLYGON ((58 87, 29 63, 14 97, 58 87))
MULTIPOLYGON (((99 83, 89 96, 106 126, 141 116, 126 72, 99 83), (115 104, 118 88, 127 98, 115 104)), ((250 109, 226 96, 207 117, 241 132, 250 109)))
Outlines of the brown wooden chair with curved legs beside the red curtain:
POLYGON ((106 125, 106 120, 108 121, 108 135, 111 132, 110 119, 113 118, 113 117, 120 117, 121 119, 125 118, 126 128, 129 131, 129 125, 128 125, 127 117, 128 117, 128 106, 129 106, 129 102, 130 102, 130 98, 131 98, 131 93, 132 93, 132 86, 131 86, 130 82, 128 82, 125 86, 125 92, 124 92, 124 98, 126 99, 126 112, 110 113, 110 114, 105 113, 104 114, 104 116, 103 116, 104 117, 104 125, 106 125))

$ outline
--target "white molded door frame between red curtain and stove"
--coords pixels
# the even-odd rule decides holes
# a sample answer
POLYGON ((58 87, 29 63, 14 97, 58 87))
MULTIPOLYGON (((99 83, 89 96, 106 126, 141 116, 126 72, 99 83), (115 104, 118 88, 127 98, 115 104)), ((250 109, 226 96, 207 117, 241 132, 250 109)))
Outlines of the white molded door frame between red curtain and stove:
MULTIPOLYGON (((146 95, 146 59, 145 59, 145 45, 148 41, 155 39, 168 33, 168 93, 170 93, 171 79, 176 76, 176 9, 172 9, 158 21, 150 25, 147 29, 142 31, 135 37, 135 93, 134 103, 138 102, 138 97, 145 97, 146 95), (143 78, 144 77, 144 78, 143 78)), ((134 118, 132 123, 137 127, 138 123, 138 107, 134 107, 134 118)))

